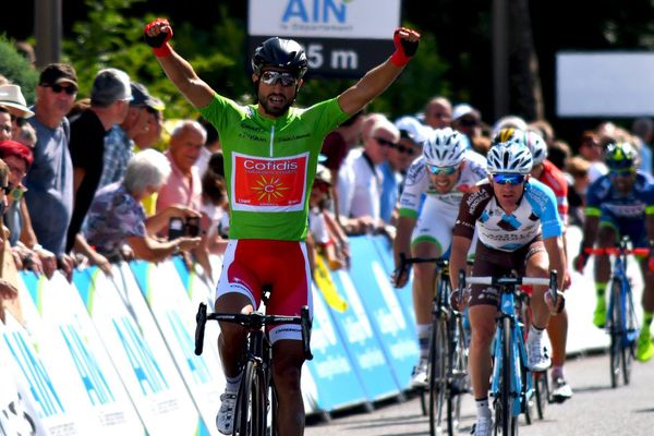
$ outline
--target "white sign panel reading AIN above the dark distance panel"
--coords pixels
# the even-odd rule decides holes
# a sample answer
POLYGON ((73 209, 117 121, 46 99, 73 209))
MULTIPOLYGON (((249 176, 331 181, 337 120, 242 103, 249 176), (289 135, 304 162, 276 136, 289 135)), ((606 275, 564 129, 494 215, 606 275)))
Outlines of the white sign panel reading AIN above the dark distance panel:
POLYGON ((250 35, 390 39, 401 0, 250 0, 250 35))

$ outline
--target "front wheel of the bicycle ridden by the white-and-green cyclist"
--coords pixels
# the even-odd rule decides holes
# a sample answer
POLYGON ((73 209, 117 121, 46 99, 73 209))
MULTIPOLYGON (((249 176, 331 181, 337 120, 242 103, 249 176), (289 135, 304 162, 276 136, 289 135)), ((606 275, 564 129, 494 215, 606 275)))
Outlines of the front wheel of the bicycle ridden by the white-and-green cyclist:
POLYGON ((443 412, 447 395, 447 356, 449 354, 449 338, 447 320, 437 318, 432 330, 429 343, 429 434, 439 435, 443 432, 443 412))

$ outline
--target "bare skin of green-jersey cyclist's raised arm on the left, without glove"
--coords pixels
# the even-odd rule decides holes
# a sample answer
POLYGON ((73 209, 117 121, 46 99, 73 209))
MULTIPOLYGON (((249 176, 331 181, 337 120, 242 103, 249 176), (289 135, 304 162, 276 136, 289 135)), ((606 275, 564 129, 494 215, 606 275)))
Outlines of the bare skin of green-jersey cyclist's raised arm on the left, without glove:
MULTIPOLYGON (((149 31, 150 36, 171 32, 167 23, 157 23, 149 31)), ((191 105, 204 108, 211 102, 214 89, 197 76, 193 66, 174 50, 169 56, 157 57, 159 64, 174 86, 186 97, 191 105)))

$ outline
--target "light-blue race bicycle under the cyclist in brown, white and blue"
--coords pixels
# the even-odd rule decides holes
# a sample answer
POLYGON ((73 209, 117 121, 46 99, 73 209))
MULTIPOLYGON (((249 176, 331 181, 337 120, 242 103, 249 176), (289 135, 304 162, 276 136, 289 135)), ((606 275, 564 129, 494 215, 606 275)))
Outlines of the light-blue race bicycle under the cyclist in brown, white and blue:
POLYGON ((523 324, 519 316, 522 293, 520 286, 547 286, 556 306, 557 274, 552 271, 548 279, 520 276, 465 277, 465 271, 460 270, 459 298, 462 298, 468 284, 492 286, 500 294, 491 382, 495 434, 517 435, 521 413, 525 413, 528 423, 531 423, 534 397, 533 376, 526 361, 523 324))

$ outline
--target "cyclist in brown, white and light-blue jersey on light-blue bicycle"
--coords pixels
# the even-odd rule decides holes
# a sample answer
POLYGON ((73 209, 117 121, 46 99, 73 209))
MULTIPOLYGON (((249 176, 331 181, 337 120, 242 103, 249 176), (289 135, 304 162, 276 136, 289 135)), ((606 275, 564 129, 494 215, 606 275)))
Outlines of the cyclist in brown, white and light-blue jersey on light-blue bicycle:
MULTIPOLYGON (((532 165, 531 152, 520 141, 509 138, 491 148, 487 182, 481 183, 479 190, 465 194, 461 201, 453 230, 451 271, 465 268, 465 255, 476 231, 479 241, 473 276, 498 276, 517 270, 521 276, 548 278, 549 271, 556 269, 558 288, 562 289, 566 276, 562 222, 552 190, 530 179, 532 165)), ((452 274, 450 278, 452 289, 458 289, 458 275, 452 274)), ((558 305, 554 307, 549 293, 545 292, 546 287, 533 288, 528 365, 534 372, 542 372, 550 365, 543 347, 543 331, 550 313, 562 308, 564 299, 557 299, 558 305)), ((465 300, 472 331, 469 368, 477 410, 473 434, 486 436, 493 428, 488 385, 491 342, 495 335, 499 295, 484 286, 472 286, 465 300)), ((452 298, 452 304, 459 305, 459 299, 452 298)))

